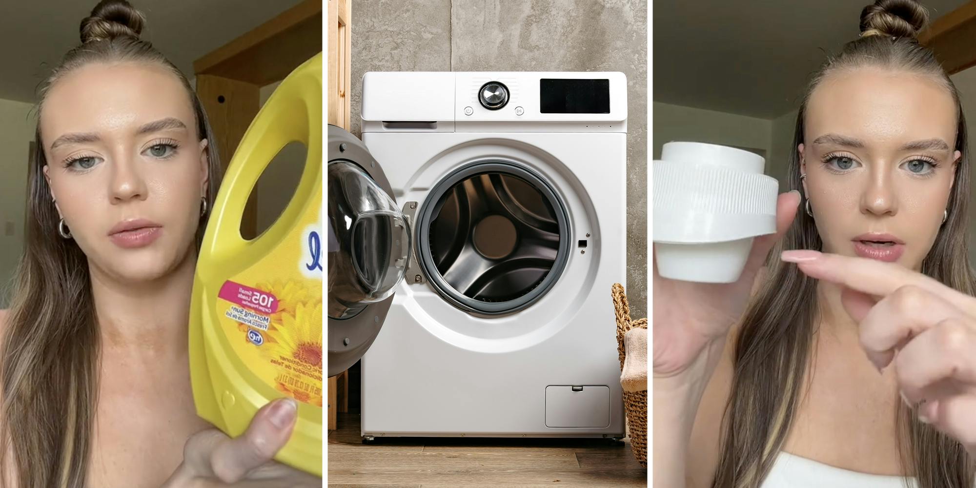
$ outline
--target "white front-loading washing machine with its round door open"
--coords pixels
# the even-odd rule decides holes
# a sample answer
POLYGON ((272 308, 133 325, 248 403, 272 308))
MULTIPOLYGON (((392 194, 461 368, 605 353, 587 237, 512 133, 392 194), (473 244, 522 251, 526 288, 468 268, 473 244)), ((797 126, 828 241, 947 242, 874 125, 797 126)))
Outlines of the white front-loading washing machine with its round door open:
POLYGON ((623 437, 610 289, 627 263, 625 75, 369 72, 362 83, 369 155, 357 164, 382 168, 405 216, 381 225, 382 256, 362 253, 396 271, 375 283, 405 274, 371 305, 385 320, 330 317, 330 361, 343 341, 368 348, 364 440, 623 437), (338 337, 363 327, 368 341, 338 337))

